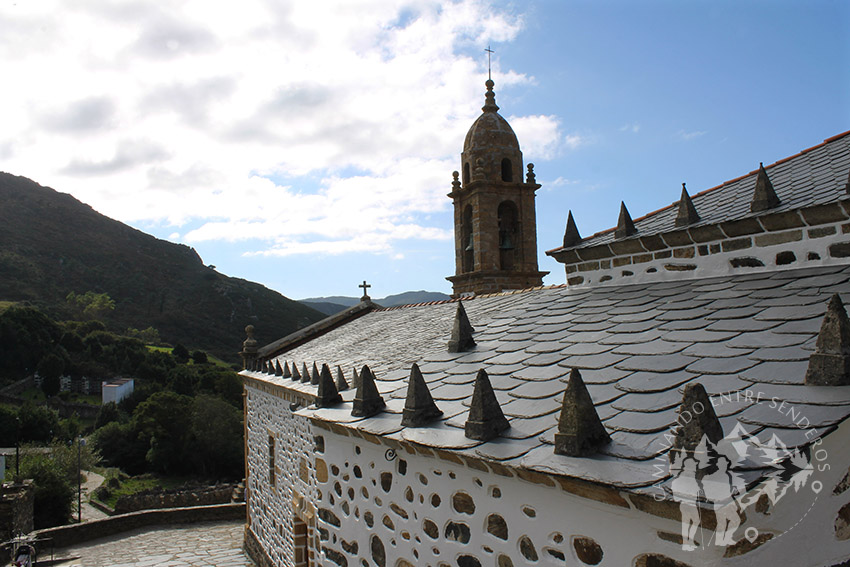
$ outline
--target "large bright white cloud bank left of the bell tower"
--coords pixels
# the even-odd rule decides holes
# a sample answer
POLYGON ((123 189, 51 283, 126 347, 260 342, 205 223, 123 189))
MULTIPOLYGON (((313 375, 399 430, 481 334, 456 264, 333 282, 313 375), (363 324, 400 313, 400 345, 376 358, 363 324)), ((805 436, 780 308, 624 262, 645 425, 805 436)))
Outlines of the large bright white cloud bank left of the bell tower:
MULTIPOLYGON (((390 253, 450 238, 426 215, 450 207, 481 50, 522 26, 485 0, 4 3, 26 33, 0 37, 0 154, 119 220, 194 219, 186 242, 390 253)), ((511 121, 530 159, 584 142, 511 121)))

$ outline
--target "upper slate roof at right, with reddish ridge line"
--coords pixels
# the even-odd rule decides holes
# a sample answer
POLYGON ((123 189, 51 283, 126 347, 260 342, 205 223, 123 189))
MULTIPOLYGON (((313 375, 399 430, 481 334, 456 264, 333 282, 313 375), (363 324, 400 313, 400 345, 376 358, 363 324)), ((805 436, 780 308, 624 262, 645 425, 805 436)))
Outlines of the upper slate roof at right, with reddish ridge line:
MULTIPOLYGON (((691 199, 700 220, 689 225, 688 228, 739 220, 767 212, 776 213, 833 203, 839 198, 846 198, 845 187, 848 183, 848 171, 850 171, 850 132, 833 136, 817 146, 803 150, 773 165, 766 165, 765 170, 780 199, 778 207, 762 213, 750 212, 750 201, 758 175, 758 168, 756 168, 747 175, 692 195, 691 199)), ((633 237, 675 230, 678 205, 676 201, 668 207, 635 219, 637 232, 633 237)), ((613 220, 613 210, 611 214, 613 220)), ((589 248, 615 240, 612 228, 585 238, 574 246, 558 247, 549 252, 589 248)))

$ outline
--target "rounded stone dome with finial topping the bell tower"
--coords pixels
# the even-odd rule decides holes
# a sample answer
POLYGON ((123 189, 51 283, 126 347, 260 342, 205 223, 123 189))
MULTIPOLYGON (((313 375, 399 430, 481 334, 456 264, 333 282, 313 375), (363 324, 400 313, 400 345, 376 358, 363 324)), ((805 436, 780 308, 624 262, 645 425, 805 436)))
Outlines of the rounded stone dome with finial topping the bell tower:
POLYGON ((484 95, 483 111, 463 142, 461 161, 463 162, 463 183, 480 178, 491 181, 514 181, 514 176, 522 176, 522 152, 516 134, 499 114, 493 81, 484 83, 487 92, 484 95), (479 169, 481 168, 481 169, 479 169), (476 175, 477 173, 477 175, 476 175))

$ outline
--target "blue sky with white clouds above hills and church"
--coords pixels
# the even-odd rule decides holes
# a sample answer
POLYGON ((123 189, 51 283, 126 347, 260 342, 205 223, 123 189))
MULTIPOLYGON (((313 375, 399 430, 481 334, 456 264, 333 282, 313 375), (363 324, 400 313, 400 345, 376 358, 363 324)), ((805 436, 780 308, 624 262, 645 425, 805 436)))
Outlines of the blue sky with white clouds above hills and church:
POLYGON ((449 292, 451 173, 496 100, 540 268, 850 129, 840 1, 0 3, 0 169, 292 298, 449 292), (157 5, 161 4, 161 5, 157 5))

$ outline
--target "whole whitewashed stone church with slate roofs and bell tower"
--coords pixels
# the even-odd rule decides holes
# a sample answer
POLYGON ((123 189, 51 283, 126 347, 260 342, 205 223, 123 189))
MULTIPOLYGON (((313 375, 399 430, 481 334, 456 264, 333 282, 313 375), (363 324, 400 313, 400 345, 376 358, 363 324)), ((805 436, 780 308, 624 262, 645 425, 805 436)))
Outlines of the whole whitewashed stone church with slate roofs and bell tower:
MULTIPOLYGON (((486 83, 453 299, 242 348, 258 565, 850 564, 850 132, 583 238, 486 83)), ((625 196, 627 197, 627 196, 625 196)))

